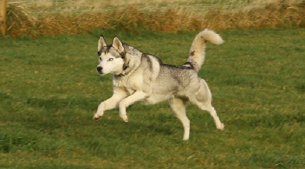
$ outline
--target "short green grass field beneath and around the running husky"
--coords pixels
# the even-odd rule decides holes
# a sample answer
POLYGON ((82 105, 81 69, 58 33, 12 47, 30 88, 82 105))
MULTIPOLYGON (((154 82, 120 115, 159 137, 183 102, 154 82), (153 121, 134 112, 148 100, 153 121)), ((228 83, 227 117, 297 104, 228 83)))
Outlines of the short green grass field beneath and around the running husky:
POLYGON ((112 95, 95 71, 100 33, 181 64, 197 32, 1 38, 0 168, 305 167, 304 29, 220 31, 199 75, 225 130, 189 105, 188 142, 167 103, 130 106, 128 124, 117 110, 92 120, 112 95))

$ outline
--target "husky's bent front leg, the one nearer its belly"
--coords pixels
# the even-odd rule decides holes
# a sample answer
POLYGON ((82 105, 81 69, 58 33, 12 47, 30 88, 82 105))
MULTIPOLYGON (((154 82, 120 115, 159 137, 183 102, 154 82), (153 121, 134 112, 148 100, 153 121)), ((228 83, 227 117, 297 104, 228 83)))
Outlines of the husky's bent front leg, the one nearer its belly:
POLYGON ((128 116, 126 113, 126 108, 139 100, 147 98, 147 96, 148 96, 147 93, 138 90, 135 93, 133 93, 132 95, 122 99, 121 102, 119 103, 119 116, 125 122, 128 122, 129 119, 128 119, 128 116))

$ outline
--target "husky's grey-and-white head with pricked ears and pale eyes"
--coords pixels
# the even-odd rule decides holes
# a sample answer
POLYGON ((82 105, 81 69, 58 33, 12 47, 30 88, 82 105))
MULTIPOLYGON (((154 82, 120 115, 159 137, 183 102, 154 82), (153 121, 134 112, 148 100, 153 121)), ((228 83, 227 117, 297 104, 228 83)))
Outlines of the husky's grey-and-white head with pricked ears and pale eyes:
POLYGON ((98 45, 99 65, 97 71, 100 75, 119 75, 124 71, 125 49, 117 37, 113 38, 111 45, 106 44, 101 35, 98 45))

